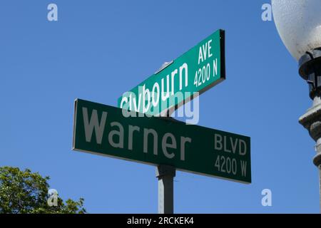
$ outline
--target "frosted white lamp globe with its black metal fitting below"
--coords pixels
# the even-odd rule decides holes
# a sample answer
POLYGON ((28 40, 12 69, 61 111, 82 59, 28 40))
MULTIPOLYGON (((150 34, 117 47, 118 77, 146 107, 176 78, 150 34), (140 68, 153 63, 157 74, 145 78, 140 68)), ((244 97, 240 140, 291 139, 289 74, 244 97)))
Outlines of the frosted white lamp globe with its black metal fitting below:
POLYGON ((310 97, 321 91, 321 0, 272 0, 275 25, 287 50, 299 62, 310 97))

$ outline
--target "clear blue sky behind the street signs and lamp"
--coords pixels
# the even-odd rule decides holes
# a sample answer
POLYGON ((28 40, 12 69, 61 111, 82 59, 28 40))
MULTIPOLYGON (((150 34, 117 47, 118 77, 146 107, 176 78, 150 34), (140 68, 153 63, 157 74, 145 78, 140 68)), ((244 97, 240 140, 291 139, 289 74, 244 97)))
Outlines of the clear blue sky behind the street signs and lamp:
POLYGON ((199 125, 251 137, 253 183, 177 172, 175 212, 319 212, 314 142, 298 123, 311 105, 307 85, 261 19, 266 2, 1 0, 0 166, 49 175, 91 213, 156 213, 155 167, 71 150, 73 100, 116 106, 223 28, 227 79, 200 96, 199 125), (50 3, 58 21, 47 20, 50 3), (266 188, 272 207, 261 204, 266 188))

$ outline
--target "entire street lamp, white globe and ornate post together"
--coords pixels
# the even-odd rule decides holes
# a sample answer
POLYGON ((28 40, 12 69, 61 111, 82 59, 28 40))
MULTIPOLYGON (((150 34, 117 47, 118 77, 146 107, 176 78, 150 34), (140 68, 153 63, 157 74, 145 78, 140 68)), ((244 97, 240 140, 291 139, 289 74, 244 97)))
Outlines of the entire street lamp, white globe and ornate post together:
POLYGON ((277 31, 283 43, 299 63, 300 76, 309 85, 312 108, 299 122, 315 140, 317 155, 313 163, 320 172, 321 212, 321 1, 272 0, 277 31))

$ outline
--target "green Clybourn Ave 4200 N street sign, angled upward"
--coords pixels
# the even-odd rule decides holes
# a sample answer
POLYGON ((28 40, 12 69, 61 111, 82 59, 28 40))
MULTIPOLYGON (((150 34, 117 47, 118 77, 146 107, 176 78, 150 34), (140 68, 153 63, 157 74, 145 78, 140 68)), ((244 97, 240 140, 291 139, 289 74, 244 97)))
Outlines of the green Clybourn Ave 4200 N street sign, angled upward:
POLYGON ((118 107, 149 115, 179 108, 184 101, 225 80, 225 31, 218 30, 118 98, 118 107))

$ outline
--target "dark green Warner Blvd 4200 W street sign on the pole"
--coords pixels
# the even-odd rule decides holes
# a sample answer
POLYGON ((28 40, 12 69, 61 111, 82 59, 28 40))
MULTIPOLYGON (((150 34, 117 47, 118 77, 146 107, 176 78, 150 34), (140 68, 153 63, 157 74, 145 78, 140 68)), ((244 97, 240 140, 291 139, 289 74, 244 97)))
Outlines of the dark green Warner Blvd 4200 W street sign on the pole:
POLYGON ((73 150, 251 182, 250 138, 77 99, 73 150))

